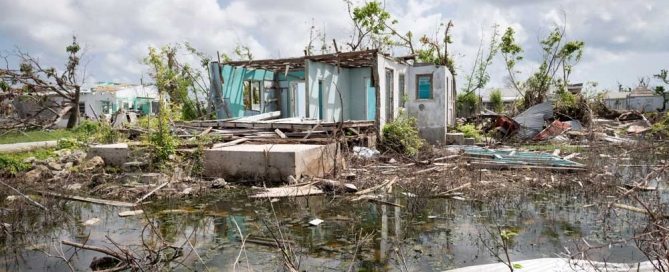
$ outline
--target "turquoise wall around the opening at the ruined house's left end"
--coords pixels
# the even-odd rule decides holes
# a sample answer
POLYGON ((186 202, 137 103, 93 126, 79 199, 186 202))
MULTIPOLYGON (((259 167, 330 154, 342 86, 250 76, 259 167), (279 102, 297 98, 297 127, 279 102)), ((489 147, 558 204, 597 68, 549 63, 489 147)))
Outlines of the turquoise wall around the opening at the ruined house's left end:
MULTIPOLYGON (((223 78, 223 99, 227 102, 228 111, 231 117, 244 116, 244 81, 255 80, 265 81, 274 80, 274 72, 267 70, 249 70, 243 67, 233 67, 223 65, 221 69, 223 78)), ((219 119, 225 118, 225 112, 217 113, 219 119)))

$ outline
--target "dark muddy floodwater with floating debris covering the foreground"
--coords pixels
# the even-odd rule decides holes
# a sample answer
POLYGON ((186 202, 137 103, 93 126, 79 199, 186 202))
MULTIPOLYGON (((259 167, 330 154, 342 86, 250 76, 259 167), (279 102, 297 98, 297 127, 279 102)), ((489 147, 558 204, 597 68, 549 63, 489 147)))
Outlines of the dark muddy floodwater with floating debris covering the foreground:
MULTIPOLYGON (((643 177, 651 169, 638 166, 648 162, 637 160, 602 161, 609 161, 607 169, 625 180, 643 177)), ((583 239, 602 245, 630 237, 643 227, 639 214, 604 214, 590 205, 608 199, 598 192, 580 190, 516 192, 482 200, 416 199, 396 192, 386 201, 401 206, 397 207, 350 203, 332 196, 270 203, 250 200, 247 192, 233 190, 198 200, 151 203, 145 207, 147 216, 126 218, 117 215, 126 210, 123 208, 68 202, 64 208, 70 216, 62 223, 38 234, 5 238, 7 249, 0 253, 0 269, 68 270, 55 257, 62 249, 64 256, 72 256, 77 269, 87 270, 94 257, 103 255, 85 250, 75 254, 70 247, 61 248, 61 240, 113 248, 109 237, 141 252, 143 243, 155 244, 161 237, 184 249, 186 257, 182 264, 173 264, 175 270, 277 271, 283 258, 267 241, 278 237, 292 241, 300 270, 341 271, 352 266, 354 271, 442 271, 497 262, 491 251, 498 249, 494 241, 500 239, 502 229, 517 233, 510 245, 511 259, 524 260, 575 253, 575 245, 583 239), (82 224, 91 218, 100 222, 82 224), (309 225, 315 218, 324 221, 309 225), (153 230, 145 228, 149 219, 153 230), (605 220, 613 223, 604 225, 605 220), (247 238, 243 250, 240 232, 247 238), (358 243, 363 238, 368 241, 358 243)), ((39 224, 39 218, 31 220, 39 224)), ((645 260, 633 244, 603 247, 589 252, 589 257, 609 262, 645 260)))

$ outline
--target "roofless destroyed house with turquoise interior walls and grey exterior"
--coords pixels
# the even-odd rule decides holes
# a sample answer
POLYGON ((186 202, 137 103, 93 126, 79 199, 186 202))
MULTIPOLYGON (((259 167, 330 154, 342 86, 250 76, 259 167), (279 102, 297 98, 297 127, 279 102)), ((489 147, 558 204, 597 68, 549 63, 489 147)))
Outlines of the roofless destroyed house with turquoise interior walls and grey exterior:
POLYGON ((209 70, 218 119, 280 112, 300 121, 374 121, 380 132, 404 109, 433 143, 455 124, 453 75, 445 66, 377 50, 212 62, 209 70))

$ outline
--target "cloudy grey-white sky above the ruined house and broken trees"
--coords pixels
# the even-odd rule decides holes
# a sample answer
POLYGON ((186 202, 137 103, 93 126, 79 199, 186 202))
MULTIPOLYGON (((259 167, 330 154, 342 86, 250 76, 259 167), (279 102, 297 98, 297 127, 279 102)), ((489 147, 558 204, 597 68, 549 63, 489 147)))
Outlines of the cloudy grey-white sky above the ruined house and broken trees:
MULTIPOLYGON (((471 69, 482 35, 512 26, 525 49, 521 70, 536 68, 538 40, 566 14, 569 39, 583 40, 584 58, 572 82, 615 89, 669 69, 667 0, 385 0, 398 30, 434 35, 455 23, 452 51, 460 77, 471 69)), ((343 43, 351 24, 343 0, 21 0, 0 1, 0 50, 20 47, 61 67, 77 35, 86 48, 89 82, 137 83, 149 46, 190 42, 214 56, 248 45, 256 59, 302 55, 313 24, 343 43)), ((188 56, 184 56, 188 57, 188 56)), ((504 86, 501 58, 491 85, 504 86)), ((460 79, 462 82, 462 79, 460 79)))

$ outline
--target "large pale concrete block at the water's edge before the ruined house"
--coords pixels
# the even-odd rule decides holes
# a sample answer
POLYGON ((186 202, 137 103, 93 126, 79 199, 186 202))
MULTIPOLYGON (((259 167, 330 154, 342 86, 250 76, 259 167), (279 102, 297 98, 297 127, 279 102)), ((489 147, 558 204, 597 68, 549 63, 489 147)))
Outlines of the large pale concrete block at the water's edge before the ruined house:
POLYGON ((204 151, 209 177, 288 181, 289 176, 322 177, 332 171, 338 145, 242 144, 204 151))

